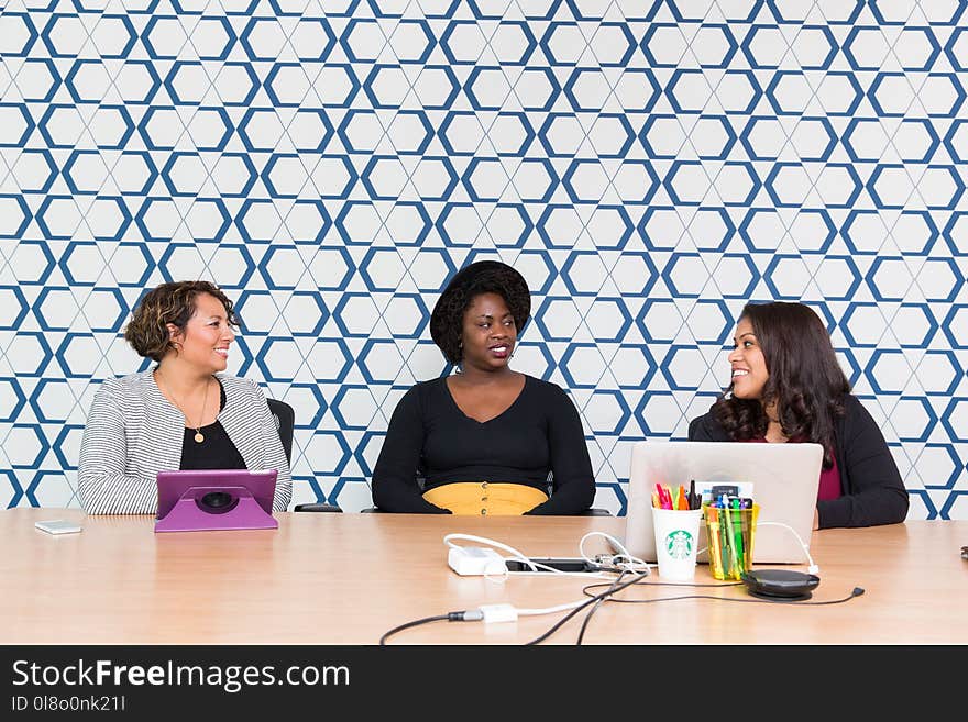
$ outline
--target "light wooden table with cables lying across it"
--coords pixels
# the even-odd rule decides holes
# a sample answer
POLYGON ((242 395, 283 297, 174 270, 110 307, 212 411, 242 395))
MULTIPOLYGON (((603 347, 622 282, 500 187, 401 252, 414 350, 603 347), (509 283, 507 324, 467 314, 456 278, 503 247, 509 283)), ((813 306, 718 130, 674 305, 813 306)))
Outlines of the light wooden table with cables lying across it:
MULTIPOLYGON (((77 510, 0 511, 2 644, 374 645, 410 620, 509 602, 548 608, 582 599, 583 579, 531 575, 495 582, 447 566, 447 533, 486 536, 532 556, 578 556, 590 531, 624 533, 624 519, 454 518, 282 513, 277 531, 155 534, 147 516, 77 510), (73 519, 80 534, 52 536, 42 519, 73 519)), ((968 522, 912 521, 814 532, 820 587, 811 601, 679 599, 605 603, 584 644, 965 644, 968 522)), ((604 551, 598 542, 593 552, 604 551)), ((804 566, 790 568, 805 570, 804 566)), ((658 575, 647 579, 659 581, 658 575)), ((696 582, 715 582, 704 565, 696 582)), ((744 587, 654 585, 624 599, 688 595, 752 599, 744 587)), ((563 612, 517 622, 437 622, 392 644, 521 644, 563 612)), ((576 615, 546 644, 573 644, 576 615)))

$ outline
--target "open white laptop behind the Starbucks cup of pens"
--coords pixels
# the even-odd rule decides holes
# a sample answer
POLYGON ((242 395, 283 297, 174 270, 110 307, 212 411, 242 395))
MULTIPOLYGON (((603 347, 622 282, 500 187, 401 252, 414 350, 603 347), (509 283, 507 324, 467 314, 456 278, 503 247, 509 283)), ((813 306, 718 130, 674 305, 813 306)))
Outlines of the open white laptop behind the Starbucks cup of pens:
MULTIPOLYGON (((803 546, 789 529, 765 522, 789 524, 810 546, 823 457, 820 444, 638 442, 631 452, 624 544, 630 554, 654 562, 656 484, 683 485, 688 490, 694 479, 696 493, 736 486, 739 496, 759 504, 754 564, 807 564, 803 546)), ((707 546, 705 523, 700 526, 698 546, 707 546)), ((708 557, 702 553, 697 560, 707 563, 708 557)))

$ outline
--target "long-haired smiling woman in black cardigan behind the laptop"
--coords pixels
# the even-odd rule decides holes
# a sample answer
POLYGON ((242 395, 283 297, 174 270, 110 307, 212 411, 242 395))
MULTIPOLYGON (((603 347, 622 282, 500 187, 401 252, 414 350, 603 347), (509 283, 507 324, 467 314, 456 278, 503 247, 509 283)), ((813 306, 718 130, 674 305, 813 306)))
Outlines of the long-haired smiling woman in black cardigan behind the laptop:
POLYGON ((894 458, 813 309, 748 303, 729 364, 729 387, 690 423, 690 441, 821 444, 814 529, 904 521, 908 490, 894 458))

